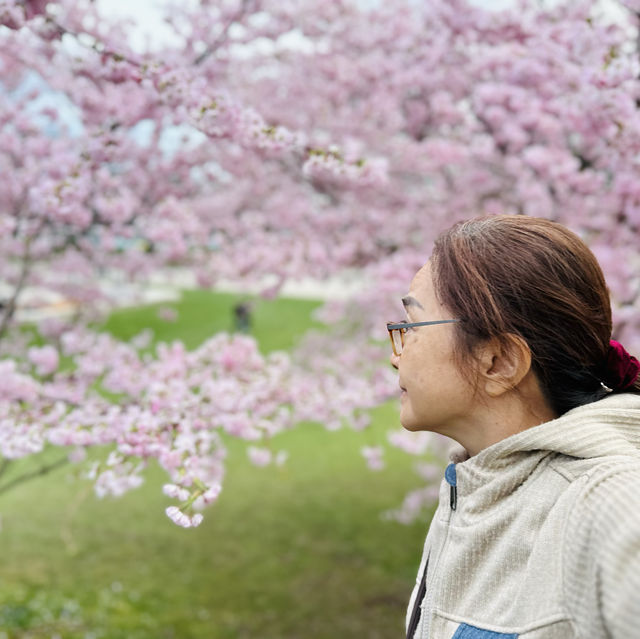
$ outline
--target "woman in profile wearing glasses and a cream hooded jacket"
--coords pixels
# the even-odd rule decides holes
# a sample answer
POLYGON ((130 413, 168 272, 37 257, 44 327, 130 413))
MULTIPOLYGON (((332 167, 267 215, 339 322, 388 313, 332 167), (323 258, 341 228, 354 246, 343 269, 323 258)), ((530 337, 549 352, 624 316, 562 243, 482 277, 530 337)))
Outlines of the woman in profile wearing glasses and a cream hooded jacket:
POLYGON ((548 220, 474 219, 403 303, 402 425, 462 446, 407 636, 640 638, 640 364, 593 254, 548 220))

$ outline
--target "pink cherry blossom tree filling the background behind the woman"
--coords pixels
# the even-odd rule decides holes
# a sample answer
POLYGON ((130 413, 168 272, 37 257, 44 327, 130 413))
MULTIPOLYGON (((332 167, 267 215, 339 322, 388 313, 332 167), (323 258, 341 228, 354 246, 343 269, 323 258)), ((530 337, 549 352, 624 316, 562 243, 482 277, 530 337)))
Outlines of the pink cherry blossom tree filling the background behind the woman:
MULTIPOLYGON (((284 454, 261 442, 301 420, 366 427, 394 392, 385 320, 437 234, 479 213, 579 232, 617 337, 640 351, 640 7, 607 6, 200 0, 168 5, 175 38, 140 50, 89 0, 1 0, 3 457, 111 444, 90 470, 115 495, 155 458, 167 514, 196 525, 221 487, 220 432, 264 464, 284 454), (150 355, 87 328, 117 302, 105 278, 175 266, 203 286, 270 277, 265 294, 345 269, 363 286, 291 355, 227 335, 150 355), (42 323, 44 345, 17 330, 28 287, 78 309, 42 323)), ((409 496, 399 518, 432 498, 409 496)))

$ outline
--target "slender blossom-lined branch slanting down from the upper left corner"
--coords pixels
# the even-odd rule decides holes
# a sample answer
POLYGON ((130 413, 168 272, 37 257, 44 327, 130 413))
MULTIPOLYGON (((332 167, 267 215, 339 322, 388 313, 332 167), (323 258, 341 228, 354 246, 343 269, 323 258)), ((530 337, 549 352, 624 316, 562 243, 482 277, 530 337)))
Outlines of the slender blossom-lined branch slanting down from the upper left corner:
MULTIPOLYGON (((15 7, 24 8, 24 20, 20 22, 13 18, 12 21, 5 17, 4 24, 10 28, 17 28, 12 25, 22 26, 26 24, 25 20, 43 15, 47 3, 35 3, 37 7, 31 10, 29 2, 14 4, 15 7)), ((184 123, 194 126, 210 138, 229 139, 246 149, 269 156, 293 154, 303 165, 305 175, 327 178, 338 182, 342 188, 384 184, 387 163, 382 159, 351 159, 335 145, 328 148, 309 145, 303 133, 269 124, 258 111, 245 106, 227 91, 212 92, 210 83, 198 73, 199 65, 224 44, 231 25, 258 7, 256 0, 242 0, 238 10, 226 19, 216 40, 192 64, 187 65, 168 66, 153 59, 142 59, 125 49, 124 44, 120 47, 110 45, 99 34, 66 27, 50 14, 44 14, 45 22, 40 33, 51 41, 59 40, 63 35, 71 36, 78 44, 96 54, 95 60, 87 61, 76 72, 86 74, 99 84, 141 84, 143 88, 155 92, 154 98, 160 104, 172 110, 177 109, 184 123)), ((3 24, 2 14, 0 24, 3 24)))

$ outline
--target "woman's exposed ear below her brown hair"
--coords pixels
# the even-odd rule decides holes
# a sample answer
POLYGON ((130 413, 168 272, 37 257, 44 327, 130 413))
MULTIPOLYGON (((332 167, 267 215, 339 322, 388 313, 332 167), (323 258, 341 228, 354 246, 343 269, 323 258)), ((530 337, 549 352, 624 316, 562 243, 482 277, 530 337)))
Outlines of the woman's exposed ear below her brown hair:
POLYGON ((489 397, 498 397, 514 388, 531 370, 531 350, 519 335, 490 339, 476 351, 480 388, 489 397))

